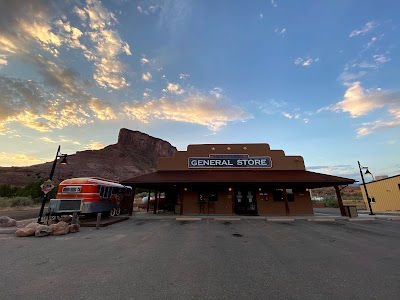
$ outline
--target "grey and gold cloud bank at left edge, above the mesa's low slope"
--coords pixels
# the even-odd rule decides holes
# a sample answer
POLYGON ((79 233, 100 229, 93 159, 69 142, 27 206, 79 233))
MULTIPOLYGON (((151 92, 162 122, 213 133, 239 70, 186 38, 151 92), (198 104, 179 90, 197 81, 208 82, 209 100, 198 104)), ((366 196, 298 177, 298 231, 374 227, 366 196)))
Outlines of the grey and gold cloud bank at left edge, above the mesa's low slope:
MULTIPOLYGON (((66 77, 65 80, 68 82, 69 79, 66 77)), ((63 84, 65 82, 53 82, 54 86, 63 84)), ((95 118, 116 118, 109 104, 88 94, 78 93, 75 88, 71 83, 64 87, 65 94, 54 94, 35 81, 0 76, 0 132, 12 122, 40 132, 49 132, 71 125, 88 124, 95 118), (80 98, 74 98, 74 95, 80 98)))

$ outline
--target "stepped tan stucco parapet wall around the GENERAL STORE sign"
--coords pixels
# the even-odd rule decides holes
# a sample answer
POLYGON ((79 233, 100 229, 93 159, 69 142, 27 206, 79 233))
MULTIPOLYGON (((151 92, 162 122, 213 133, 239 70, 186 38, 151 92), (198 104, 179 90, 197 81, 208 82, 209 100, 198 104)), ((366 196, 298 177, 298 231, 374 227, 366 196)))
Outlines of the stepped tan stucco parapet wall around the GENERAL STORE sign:
MULTIPOLYGON (((208 157, 209 154, 249 154, 250 157, 270 156, 271 170, 305 170, 304 160, 301 156, 285 156, 283 150, 271 150, 268 144, 202 144, 189 145, 187 151, 178 151, 173 157, 158 159, 158 171, 184 171, 188 170, 189 157, 208 157), (230 150, 228 150, 228 148, 230 150)), ((223 168, 210 168, 222 170, 223 168)), ((228 168, 232 170, 232 168, 228 168)), ((235 168, 238 170, 239 168, 235 168)), ((248 170, 249 168, 245 168, 248 170)), ((207 168, 202 168, 207 170, 207 168)))

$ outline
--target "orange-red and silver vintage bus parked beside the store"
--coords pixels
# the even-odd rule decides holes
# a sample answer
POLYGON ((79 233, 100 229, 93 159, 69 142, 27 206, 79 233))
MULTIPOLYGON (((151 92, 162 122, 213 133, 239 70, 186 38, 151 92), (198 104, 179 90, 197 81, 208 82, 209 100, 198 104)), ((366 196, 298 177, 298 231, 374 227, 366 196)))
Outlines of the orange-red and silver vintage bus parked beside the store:
POLYGON ((121 201, 132 188, 104 178, 66 179, 58 186, 56 199, 50 199, 49 216, 104 213, 118 216, 121 201))

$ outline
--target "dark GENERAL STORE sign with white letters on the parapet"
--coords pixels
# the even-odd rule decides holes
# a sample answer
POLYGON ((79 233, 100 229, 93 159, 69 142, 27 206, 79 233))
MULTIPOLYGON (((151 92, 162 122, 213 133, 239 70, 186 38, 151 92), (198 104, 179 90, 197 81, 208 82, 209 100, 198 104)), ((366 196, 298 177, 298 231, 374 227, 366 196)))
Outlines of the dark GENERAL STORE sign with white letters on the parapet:
POLYGON ((189 169, 197 168, 271 168, 270 156, 249 157, 248 154, 210 154, 208 157, 189 157, 189 169))

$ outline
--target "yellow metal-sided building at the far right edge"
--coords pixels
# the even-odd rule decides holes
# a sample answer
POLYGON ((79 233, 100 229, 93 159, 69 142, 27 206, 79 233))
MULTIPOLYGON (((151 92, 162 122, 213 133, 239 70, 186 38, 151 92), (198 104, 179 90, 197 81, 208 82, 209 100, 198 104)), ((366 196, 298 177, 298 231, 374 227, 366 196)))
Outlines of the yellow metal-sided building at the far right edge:
MULTIPOLYGON (((400 175, 380 177, 366 183, 368 196, 371 199, 371 208, 375 211, 400 211, 400 175)), ((368 207, 365 189, 361 185, 364 203, 368 207)))

